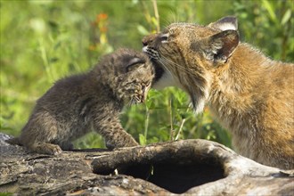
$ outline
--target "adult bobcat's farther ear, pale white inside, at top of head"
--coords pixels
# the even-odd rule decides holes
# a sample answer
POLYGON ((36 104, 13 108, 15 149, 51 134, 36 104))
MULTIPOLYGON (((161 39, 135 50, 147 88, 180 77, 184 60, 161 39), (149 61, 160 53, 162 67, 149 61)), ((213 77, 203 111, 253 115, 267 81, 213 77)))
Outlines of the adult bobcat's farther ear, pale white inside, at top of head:
POLYGON ((238 30, 238 20, 234 16, 226 16, 220 20, 217 20, 216 22, 210 23, 208 27, 213 29, 220 29, 222 31, 238 30))

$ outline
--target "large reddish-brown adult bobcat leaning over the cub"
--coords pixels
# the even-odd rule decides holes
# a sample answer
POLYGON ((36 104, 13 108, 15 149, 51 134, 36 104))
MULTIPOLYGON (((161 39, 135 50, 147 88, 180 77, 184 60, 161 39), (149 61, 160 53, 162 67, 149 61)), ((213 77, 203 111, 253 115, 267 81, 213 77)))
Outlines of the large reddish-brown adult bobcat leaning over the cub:
POLYGON ((196 112, 205 104, 233 134, 241 155, 294 168, 294 65, 239 43, 237 20, 174 23, 143 38, 156 68, 154 87, 179 86, 196 112))

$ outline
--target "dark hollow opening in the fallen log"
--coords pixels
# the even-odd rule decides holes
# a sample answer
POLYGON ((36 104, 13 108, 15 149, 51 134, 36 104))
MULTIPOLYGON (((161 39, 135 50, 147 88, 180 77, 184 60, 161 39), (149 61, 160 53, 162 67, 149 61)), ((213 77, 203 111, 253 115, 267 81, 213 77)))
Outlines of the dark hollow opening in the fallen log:
MULTIPOLYGON (((188 163, 178 161, 166 159, 152 165, 133 163, 124 167, 121 173, 149 181, 173 193, 184 193, 192 187, 225 178, 223 167, 213 160, 188 163)), ((100 174, 110 173, 104 171, 100 174)))

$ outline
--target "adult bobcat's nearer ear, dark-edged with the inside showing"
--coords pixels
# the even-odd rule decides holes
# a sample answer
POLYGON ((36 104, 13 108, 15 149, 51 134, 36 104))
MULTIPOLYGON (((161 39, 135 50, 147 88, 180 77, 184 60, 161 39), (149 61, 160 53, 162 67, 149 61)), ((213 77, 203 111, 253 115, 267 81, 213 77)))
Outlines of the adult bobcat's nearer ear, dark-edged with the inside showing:
POLYGON ((238 32, 235 30, 225 30, 208 37, 202 50, 209 61, 225 63, 238 44, 238 32))

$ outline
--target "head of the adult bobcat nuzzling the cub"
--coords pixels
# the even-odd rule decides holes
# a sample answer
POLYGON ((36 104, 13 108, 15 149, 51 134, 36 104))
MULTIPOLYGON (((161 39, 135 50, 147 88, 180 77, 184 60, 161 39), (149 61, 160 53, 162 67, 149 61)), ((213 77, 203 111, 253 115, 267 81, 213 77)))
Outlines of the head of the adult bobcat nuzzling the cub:
POLYGON ((214 73, 225 66, 239 43, 237 29, 237 20, 225 17, 208 26, 174 23, 143 37, 143 52, 156 69, 153 86, 179 86, 190 94, 196 112, 203 110, 214 73))

